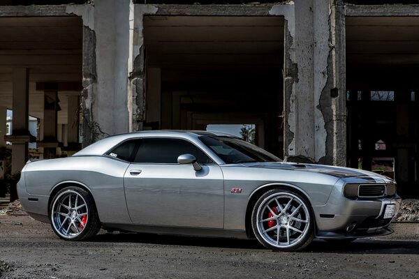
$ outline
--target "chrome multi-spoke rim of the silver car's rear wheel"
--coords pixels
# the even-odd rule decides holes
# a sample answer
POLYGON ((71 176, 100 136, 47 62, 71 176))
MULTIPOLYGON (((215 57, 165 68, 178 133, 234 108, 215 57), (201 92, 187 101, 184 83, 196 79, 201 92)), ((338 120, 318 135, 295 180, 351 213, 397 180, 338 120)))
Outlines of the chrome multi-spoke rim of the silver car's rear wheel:
POLYGON ((75 190, 60 193, 52 204, 51 221, 54 231, 64 239, 78 237, 89 222, 86 200, 75 190))

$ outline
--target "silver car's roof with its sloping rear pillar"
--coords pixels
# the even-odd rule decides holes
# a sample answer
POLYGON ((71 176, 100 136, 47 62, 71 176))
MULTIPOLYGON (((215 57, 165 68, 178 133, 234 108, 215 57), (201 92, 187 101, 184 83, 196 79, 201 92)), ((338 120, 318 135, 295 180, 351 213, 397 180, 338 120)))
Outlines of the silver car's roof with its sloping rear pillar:
POLYGON ((199 136, 203 135, 234 137, 233 135, 228 135, 226 133, 207 132, 203 130, 147 130, 105 137, 78 151, 73 156, 101 156, 120 142, 135 139, 135 137, 181 137, 194 141, 199 136))

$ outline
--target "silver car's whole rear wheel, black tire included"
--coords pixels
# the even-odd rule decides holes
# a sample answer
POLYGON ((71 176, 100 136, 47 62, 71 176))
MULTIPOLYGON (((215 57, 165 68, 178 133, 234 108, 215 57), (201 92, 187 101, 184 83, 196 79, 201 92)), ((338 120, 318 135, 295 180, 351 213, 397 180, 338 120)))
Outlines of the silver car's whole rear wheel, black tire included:
POLYGON ((50 221, 55 234, 68 241, 87 240, 101 229, 91 195, 75 186, 66 187, 54 196, 50 221))

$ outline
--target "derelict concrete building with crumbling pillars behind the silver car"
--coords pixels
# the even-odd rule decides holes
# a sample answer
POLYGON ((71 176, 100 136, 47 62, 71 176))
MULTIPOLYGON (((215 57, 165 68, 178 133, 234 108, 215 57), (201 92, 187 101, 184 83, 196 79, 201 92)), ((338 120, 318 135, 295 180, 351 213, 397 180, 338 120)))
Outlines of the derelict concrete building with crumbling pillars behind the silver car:
POLYGON ((19 172, 29 142, 54 158, 117 133, 253 124, 277 156, 417 197, 416 2, 0 0, 0 145, 19 172))

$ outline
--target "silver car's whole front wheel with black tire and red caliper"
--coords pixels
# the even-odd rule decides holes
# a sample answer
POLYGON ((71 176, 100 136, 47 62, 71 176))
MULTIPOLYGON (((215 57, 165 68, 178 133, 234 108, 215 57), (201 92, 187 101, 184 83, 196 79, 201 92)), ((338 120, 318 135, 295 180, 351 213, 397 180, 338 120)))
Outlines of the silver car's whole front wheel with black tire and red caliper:
POLYGON ((302 250, 314 239, 314 218, 309 202, 287 189, 263 194, 251 214, 256 239, 275 251, 302 250))

